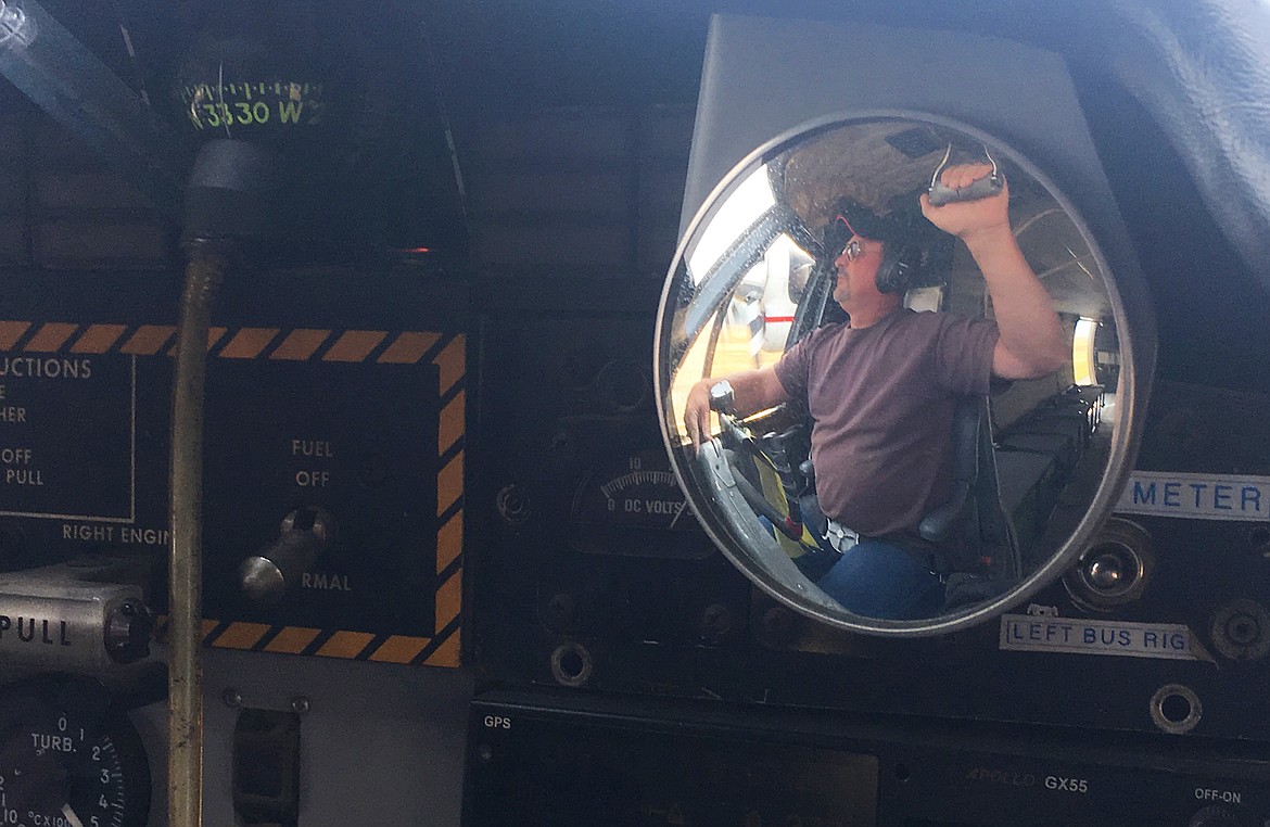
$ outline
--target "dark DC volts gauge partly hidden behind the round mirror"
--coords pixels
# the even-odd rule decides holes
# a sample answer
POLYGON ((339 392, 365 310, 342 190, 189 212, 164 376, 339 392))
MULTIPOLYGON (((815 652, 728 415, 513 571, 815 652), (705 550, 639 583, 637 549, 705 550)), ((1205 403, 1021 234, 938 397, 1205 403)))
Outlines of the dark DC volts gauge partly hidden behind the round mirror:
POLYGON ((578 487, 573 545, 597 554, 695 558, 711 551, 662 450, 605 462, 578 487))

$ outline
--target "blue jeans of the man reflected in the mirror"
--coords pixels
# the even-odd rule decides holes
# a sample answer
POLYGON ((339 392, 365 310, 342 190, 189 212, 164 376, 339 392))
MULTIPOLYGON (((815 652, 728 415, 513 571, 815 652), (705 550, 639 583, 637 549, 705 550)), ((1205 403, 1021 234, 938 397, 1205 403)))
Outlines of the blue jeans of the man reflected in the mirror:
POLYGON ((847 611, 866 617, 917 620, 944 607, 939 575, 884 540, 865 540, 848 550, 817 586, 847 611))

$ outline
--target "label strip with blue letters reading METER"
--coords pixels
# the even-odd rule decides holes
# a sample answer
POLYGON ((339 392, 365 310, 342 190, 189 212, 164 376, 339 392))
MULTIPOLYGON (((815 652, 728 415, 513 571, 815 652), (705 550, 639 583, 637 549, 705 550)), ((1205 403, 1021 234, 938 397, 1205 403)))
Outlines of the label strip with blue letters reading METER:
POLYGON ((1115 511, 1193 520, 1270 520, 1270 476, 1134 471, 1115 511))

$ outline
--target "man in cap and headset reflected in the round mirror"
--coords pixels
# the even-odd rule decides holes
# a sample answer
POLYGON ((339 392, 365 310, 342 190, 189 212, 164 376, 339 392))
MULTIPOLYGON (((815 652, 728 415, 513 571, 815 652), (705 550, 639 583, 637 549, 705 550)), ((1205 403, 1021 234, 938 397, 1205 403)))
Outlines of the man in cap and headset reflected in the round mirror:
MULTIPOLYGON (((940 180, 961 189, 989 170, 947 166, 940 180)), ((1033 379, 1071 361, 1049 295, 1015 240, 1008 197, 1005 185, 994 196, 939 207, 921 196, 926 220, 959 238, 978 264, 993 321, 903 307, 902 288, 879 285, 886 286, 888 271, 898 266, 897 253, 912 250, 914 241, 902 230, 912 222, 861 216, 853 226, 839 216, 851 238, 833 262, 833 299, 850 321, 814 330, 773 366, 725 377, 740 417, 791 399, 805 403, 828 528, 812 555, 819 565, 804 573, 859 615, 930 617, 944 605, 932 549, 917 523, 949 497, 958 396, 987 394, 992 376, 1033 379)), ((683 422, 693 448, 710 438, 709 391, 718 381, 704 379, 688 393, 683 422)))

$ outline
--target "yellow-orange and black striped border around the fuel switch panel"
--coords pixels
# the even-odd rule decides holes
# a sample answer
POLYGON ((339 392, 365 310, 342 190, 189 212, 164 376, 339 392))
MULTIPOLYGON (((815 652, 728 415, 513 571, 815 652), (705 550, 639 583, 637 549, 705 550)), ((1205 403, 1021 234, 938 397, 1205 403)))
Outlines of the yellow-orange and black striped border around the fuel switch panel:
MULTIPOLYGON (((174 325, 0 321, 0 352, 126 356, 171 354, 174 325)), ((442 403, 437 428, 437 591, 432 638, 375 635, 366 631, 271 626, 203 620, 203 643, 221 649, 283 652, 328 658, 457 667, 462 612, 464 542, 464 377, 462 334, 387 330, 281 328, 212 328, 208 356, 226 360, 291 362, 376 362, 417 365, 431 361, 439 371, 442 403)), ((160 622, 160 639, 166 624, 160 622)))

